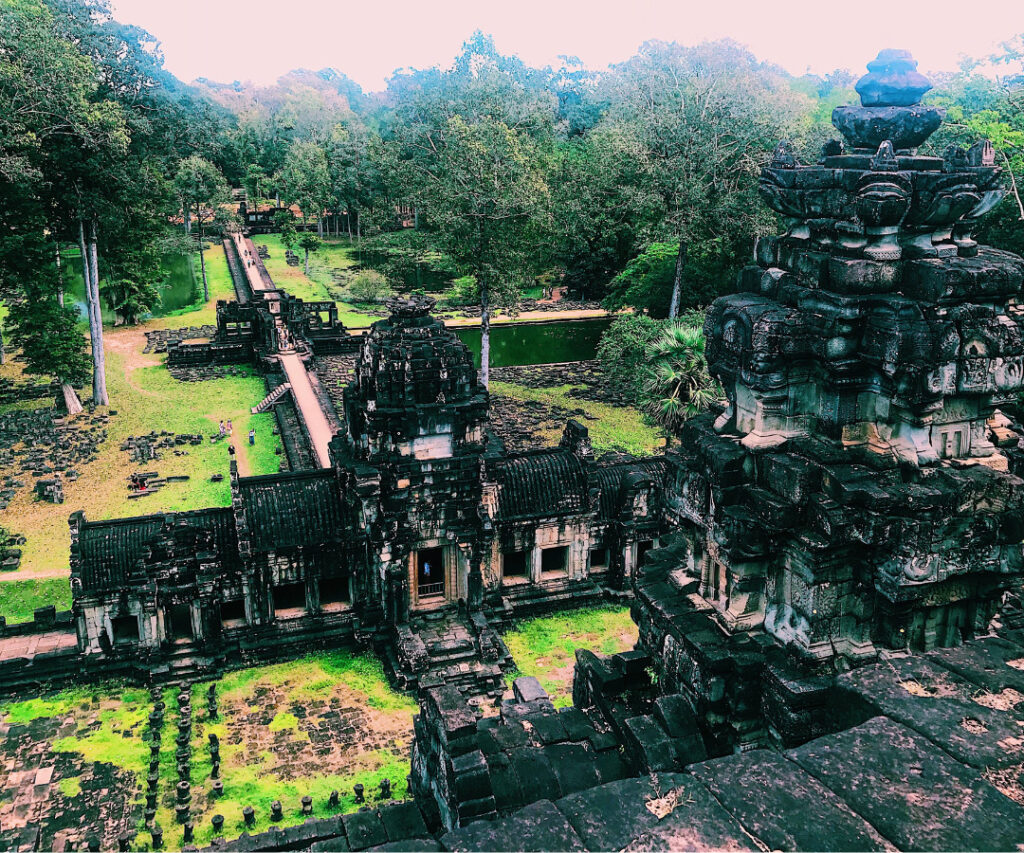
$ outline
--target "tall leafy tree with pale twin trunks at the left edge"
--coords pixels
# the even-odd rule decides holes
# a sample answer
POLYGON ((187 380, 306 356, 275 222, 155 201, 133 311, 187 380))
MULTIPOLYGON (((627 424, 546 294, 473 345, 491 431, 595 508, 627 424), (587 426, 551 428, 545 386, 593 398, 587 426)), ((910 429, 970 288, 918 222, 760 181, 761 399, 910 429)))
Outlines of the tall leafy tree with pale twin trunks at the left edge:
MULTIPOLYGON (((49 294, 33 290, 31 275, 15 276, 10 270, 23 257, 49 263, 53 247, 39 250, 39 241, 74 239, 77 232, 92 345, 92 398, 106 404, 97 219, 102 189, 111 180, 103 172, 124 160, 129 133, 124 110, 105 97, 115 78, 103 78, 84 49, 79 22, 91 20, 91 8, 54 5, 61 14, 34 0, 0 4, 0 191, 5 199, 0 208, 7 218, 0 268, 22 289, 25 304, 48 304, 49 294)), ((31 335, 22 339, 35 340, 31 335)), ((39 351, 40 369, 43 357, 39 351)))

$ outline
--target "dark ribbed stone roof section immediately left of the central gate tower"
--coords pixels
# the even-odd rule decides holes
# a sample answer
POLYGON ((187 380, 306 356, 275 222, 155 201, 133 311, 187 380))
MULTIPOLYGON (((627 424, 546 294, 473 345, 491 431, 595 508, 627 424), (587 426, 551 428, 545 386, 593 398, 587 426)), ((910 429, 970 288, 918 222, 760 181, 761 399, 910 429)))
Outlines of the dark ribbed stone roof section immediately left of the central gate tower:
POLYGON ((333 470, 243 477, 239 494, 256 551, 337 542, 342 508, 333 470))

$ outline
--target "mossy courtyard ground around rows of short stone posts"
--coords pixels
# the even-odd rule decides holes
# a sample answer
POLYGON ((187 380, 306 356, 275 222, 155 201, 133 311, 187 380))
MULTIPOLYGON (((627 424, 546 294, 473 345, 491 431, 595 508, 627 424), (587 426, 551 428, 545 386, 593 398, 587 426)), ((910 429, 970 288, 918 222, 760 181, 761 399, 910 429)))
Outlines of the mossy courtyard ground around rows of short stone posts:
MULTIPOLYGON (((274 800, 281 801, 285 814, 278 825, 291 825, 305 819, 301 799, 306 795, 312 797, 317 817, 354 811, 356 782, 364 784, 370 802, 375 802, 385 777, 391 780, 395 798, 406 795, 416 703, 390 689, 376 658, 324 652, 288 664, 240 670, 216 684, 219 715, 215 721, 209 719, 208 683, 193 688, 191 817, 199 846, 209 845, 214 838, 210 822, 214 814, 224 816, 225 839, 246 831, 242 810, 247 805, 256 812, 255 828, 248 830, 263 831, 272 825, 269 813, 274 800), (220 799, 211 794, 211 732, 220 740, 224 783, 220 799), (341 795, 338 809, 328 807, 332 791, 341 795)), ((182 829, 174 815, 176 698, 176 689, 164 691, 167 711, 157 809, 157 822, 164 828, 165 847, 170 850, 182 844, 182 829)), ((151 711, 146 690, 105 684, 7 702, 0 706, 0 722, 27 726, 37 720, 60 719, 60 736, 27 745, 42 764, 53 763, 53 757, 60 755, 78 759, 75 764, 57 762, 58 767, 74 768, 54 779, 61 795, 81 794, 83 780, 88 790, 90 765, 100 762, 131 774, 119 774, 128 780, 125 790, 108 792, 108 796, 141 804, 150 756, 143 734, 151 711)), ((0 821, 7 808, 6 798, 0 798, 0 821)), ((98 834, 104 827, 84 828, 98 834)), ((142 826, 131 828, 141 830, 142 826)), ((133 849, 144 849, 147 842, 148 833, 140 831, 133 849)))

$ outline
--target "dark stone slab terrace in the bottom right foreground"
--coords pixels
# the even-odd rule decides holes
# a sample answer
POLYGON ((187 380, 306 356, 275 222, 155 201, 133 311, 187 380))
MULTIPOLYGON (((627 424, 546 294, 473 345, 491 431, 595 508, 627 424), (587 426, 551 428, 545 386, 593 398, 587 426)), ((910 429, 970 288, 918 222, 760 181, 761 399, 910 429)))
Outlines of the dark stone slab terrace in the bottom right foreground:
POLYGON ((543 800, 440 848, 1024 849, 1024 635, 839 683, 845 731, 543 800))

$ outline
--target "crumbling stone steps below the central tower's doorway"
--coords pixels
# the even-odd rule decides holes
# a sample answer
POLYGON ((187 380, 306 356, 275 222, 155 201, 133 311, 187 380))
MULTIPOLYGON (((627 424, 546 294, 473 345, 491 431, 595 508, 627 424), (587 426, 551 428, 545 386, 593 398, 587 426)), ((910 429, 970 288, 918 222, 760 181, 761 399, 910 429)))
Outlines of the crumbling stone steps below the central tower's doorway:
POLYGON ((414 616, 394 629, 385 662, 394 683, 406 690, 442 684, 458 687, 471 701, 497 700, 505 690, 512 655, 482 613, 452 609, 414 616))

